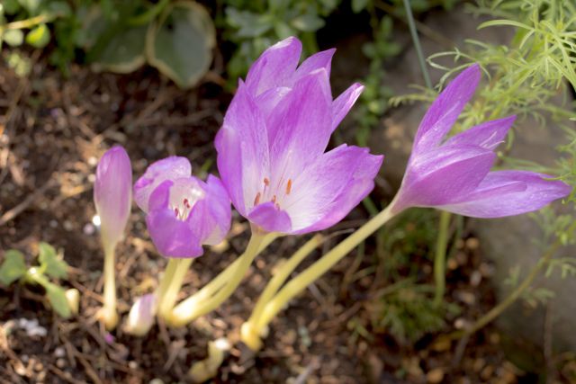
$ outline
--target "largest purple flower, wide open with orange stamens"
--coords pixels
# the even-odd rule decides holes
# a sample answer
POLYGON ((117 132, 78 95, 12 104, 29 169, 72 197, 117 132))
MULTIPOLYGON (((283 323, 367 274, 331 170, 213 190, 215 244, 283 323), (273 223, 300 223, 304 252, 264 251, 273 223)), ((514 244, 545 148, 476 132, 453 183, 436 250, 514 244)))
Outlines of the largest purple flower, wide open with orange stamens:
POLYGON ((216 137, 218 169, 242 216, 269 232, 302 234, 344 219, 374 188, 383 156, 329 138, 362 92, 332 100, 334 49, 298 62, 302 44, 275 44, 239 81, 216 137))

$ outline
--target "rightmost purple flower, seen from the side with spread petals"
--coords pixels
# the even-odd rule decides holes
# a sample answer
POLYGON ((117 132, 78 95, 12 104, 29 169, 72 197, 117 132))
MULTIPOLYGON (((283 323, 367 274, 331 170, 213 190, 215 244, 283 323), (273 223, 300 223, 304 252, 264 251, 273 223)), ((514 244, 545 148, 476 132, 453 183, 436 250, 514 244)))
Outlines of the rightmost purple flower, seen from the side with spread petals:
POLYGON ((494 148, 515 116, 487 121, 445 140, 480 82, 480 67, 467 68, 438 95, 422 119, 392 211, 436 207, 475 218, 499 218, 539 210, 571 192, 547 174, 490 172, 494 148))

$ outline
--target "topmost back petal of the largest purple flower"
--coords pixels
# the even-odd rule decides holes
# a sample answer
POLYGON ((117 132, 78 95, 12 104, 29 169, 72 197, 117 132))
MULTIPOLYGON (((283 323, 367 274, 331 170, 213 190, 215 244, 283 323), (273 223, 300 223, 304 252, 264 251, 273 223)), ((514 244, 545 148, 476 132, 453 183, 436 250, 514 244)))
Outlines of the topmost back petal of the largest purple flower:
POLYGON ((301 53, 302 43, 294 37, 266 49, 248 71, 248 92, 257 97, 269 89, 288 84, 298 66, 301 53))

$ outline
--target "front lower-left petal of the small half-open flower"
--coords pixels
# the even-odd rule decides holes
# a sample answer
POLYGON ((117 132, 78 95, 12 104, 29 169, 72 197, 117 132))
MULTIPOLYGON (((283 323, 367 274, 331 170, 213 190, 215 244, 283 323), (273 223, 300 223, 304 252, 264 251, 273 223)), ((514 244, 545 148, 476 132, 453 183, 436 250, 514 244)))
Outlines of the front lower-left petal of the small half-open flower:
POLYGON ((175 213, 168 207, 172 185, 168 180, 151 193, 150 210, 146 216, 148 232, 158 252, 165 257, 200 256, 203 252, 200 239, 195 236, 190 225, 176 219, 175 213))

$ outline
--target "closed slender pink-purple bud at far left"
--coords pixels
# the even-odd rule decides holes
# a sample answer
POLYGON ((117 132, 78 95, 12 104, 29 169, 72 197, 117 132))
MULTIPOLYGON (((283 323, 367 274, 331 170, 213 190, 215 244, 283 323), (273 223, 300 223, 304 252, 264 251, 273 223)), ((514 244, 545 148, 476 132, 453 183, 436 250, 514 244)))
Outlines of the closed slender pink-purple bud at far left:
POLYGON ((132 168, 123 147, 107 150, 96 167, 94 205, 100 216, 104 247, 120 240, 130 214, 132 168))

